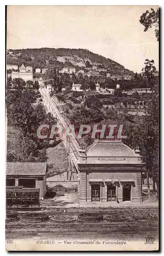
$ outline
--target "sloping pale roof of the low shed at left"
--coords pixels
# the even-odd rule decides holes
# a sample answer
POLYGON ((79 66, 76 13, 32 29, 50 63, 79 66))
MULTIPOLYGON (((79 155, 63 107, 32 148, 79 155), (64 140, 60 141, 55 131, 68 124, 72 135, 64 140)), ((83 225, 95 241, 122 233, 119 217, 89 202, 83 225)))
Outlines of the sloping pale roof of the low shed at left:
POLYGON ((46 162, 8 162, 6 163, 6 175, 45 175, 46 162))

